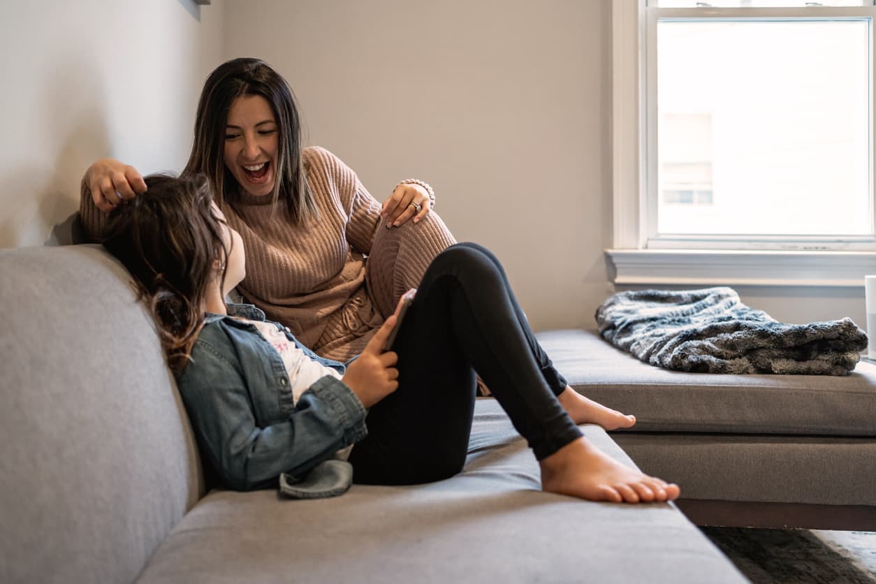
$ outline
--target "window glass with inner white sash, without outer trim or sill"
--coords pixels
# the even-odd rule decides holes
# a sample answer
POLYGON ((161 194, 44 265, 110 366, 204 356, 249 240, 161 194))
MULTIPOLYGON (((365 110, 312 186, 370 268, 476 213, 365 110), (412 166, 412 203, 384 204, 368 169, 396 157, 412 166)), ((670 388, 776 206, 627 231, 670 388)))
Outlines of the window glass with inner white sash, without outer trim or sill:
POLYGON ((639 247, 876 250, 872 0, 646 0, 639 247))

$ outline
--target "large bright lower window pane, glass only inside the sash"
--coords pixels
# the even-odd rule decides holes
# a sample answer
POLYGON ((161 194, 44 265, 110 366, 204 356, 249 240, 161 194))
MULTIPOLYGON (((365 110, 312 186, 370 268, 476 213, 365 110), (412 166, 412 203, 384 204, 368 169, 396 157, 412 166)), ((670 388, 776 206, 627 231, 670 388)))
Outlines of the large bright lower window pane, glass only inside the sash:
POLYGON ((661 20, 662 235, 866 236, 869 26, 661 20))

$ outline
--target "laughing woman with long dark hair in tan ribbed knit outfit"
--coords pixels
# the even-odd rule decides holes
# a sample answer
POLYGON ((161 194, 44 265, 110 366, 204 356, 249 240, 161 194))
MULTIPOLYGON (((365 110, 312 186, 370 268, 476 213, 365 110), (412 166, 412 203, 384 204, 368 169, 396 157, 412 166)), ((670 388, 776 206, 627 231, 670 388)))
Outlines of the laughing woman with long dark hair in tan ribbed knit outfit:
MULTIPOLYGON (((246 243, 250 270, 238 292, 332 359, 362 352, 400 295, 455 243, 430 212, 426 183, 402 181, 381 206, 331 152, 302 150, 292 90, 257 59, 223 63, 205 82, 183 171, 194 173, 208 177, 246 243)), ((145 190, 132 166, 91 165, 80 210, 89 238, 100 239, 109 210, 145 190)))

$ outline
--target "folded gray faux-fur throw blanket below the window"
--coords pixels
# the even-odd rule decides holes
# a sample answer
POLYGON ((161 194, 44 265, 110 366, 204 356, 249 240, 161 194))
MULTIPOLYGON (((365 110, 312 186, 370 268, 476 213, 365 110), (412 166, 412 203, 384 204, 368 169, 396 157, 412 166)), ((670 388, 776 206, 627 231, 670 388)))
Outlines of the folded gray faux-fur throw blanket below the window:
POLYGON ((848 375, 867 346, 851 319, 785 324, 727 287, 618 292, 596 317, 606 341, 677 371, 848 375))

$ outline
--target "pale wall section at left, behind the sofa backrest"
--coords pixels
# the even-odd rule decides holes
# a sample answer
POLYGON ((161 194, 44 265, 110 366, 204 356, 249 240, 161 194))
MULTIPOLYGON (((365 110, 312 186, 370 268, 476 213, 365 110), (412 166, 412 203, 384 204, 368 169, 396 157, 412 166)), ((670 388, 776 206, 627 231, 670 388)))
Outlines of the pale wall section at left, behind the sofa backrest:
POLYGON ((221 0, 0 4, 0 248, 53 241, 96 158, 181 170, 222 15, 221 0))

